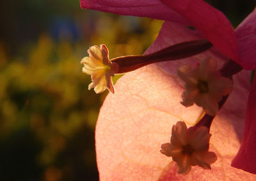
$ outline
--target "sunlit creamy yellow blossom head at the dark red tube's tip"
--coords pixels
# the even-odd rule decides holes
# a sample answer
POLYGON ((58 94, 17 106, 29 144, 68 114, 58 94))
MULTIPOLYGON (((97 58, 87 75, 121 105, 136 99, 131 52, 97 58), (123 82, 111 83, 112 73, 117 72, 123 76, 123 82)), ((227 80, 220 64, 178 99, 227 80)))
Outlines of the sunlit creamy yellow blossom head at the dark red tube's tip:
POLYGON ((94 88, 96 93, 108 88, 109 91, 115 93, 115 88, 111 77, 118 72, 118 65, 109 61, 108 49, 105 45, 96 45, 88 49, 89 56, 82 59, 83 72, 92 75, 92 83, 89 84, 88 89, 94 88))

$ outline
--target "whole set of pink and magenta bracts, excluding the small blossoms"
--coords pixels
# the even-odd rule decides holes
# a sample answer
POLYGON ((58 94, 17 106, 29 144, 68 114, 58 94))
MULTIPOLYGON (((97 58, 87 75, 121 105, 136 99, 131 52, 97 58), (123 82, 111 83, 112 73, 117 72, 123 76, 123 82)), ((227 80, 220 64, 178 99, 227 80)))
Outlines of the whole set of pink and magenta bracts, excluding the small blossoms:
POLYGON ((255 175, 245 172, 256 173, 256 81, 254 79, 251 86, 251 72, 248 70, 233 76, 233 91, 212 122, 209 150, 218 155, 218 161, 212 164, 211 170, 195 167, 186 176, 177 175, 173 162, 158 150, 170 139, 173 124, 184 120, 186 125, 194 125, 202 116, 202 108, 186 108, 180 104, 184 88, 177 77, 178 68, 184 63, 195 67, 199 59, 209 57, 218 60, 219 68, 228 58, 245 69, 256 68, 256 10, 239 25, 235 33, 225 15, 202 0, 81 0, 81 6, 166 20, 156 41, 145 54, 175 43, 202 38, 207 38, 214 45, 211 51, 179 61, 148 65, 118 80, 116 94, 108 95, 97 122, 96 150, 100 178, 254 180, 255 175), (188 25, 196 30, 188 29, 188 25), (241 129, 243 127, 244 130, 241 129), (232 166, 245 171, 232 168, 232 159, 232 166))

